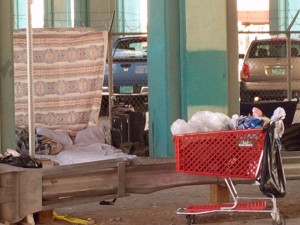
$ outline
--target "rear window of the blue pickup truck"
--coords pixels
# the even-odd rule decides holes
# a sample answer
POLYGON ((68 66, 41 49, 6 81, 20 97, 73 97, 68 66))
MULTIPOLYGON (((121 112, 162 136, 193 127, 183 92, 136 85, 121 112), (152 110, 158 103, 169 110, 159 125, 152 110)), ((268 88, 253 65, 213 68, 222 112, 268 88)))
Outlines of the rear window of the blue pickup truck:
POLYGON ((120 58, 147 58, 147 41, 131 40, 118 44, 114 59, 120 58))

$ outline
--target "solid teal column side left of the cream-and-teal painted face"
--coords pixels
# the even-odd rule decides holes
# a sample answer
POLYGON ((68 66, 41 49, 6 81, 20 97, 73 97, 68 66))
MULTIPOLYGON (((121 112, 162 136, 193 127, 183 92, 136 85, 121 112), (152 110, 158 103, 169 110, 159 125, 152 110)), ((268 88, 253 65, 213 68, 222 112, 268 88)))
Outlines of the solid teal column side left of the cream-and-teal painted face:
POLYGON ((179 0, 148 0, 150 156, 173 156, 170 124, 181 116, 179 0))

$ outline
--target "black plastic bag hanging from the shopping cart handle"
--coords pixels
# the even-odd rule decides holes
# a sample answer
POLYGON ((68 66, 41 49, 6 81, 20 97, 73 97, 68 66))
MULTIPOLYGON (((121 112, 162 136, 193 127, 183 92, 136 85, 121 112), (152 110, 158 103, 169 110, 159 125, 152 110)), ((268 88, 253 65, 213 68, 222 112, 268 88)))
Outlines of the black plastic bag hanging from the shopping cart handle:
POLYGON ((284 197, 286 179, 281 159, 281 142, 274 133, 275 123, 265 128, 266 138, 261 164, 260 190, 268 197, 284 197))

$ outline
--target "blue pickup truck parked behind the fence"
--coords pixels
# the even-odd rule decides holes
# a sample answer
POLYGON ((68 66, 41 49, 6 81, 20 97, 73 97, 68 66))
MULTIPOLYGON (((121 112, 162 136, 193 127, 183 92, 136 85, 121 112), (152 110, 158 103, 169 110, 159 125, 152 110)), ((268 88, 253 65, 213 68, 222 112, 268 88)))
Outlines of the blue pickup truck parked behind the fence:
MULTIPOLYGON (((131 105, 136 111, 148 110, 147 37, 118 38, 112 48, 114 105, 131 105)), ((109 64, 106 64, 100 115, 108 115, 109 64)))

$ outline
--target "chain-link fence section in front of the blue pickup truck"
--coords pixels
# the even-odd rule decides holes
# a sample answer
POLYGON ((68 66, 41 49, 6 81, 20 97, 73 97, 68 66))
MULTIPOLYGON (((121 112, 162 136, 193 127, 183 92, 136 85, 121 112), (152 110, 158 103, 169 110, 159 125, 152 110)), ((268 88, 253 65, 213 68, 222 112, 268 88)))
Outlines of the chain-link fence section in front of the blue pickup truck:
POLYGON ((113 109, 148 111, 148 64, 146 33, 110 33, 102 89, 100 121, 111 143, 113 109))

